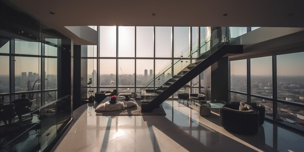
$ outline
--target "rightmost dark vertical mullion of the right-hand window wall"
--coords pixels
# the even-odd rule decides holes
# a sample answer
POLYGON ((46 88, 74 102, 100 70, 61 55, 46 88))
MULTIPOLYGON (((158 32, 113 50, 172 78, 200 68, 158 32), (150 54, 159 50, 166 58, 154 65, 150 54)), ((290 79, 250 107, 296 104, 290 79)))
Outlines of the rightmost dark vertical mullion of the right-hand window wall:
POLYGON ((272 55, 272 117, 276 119, 277 115, 277 106, 278 106, 278 93, 277 93, 277 62, 276 62, 276 55, 272 55))

